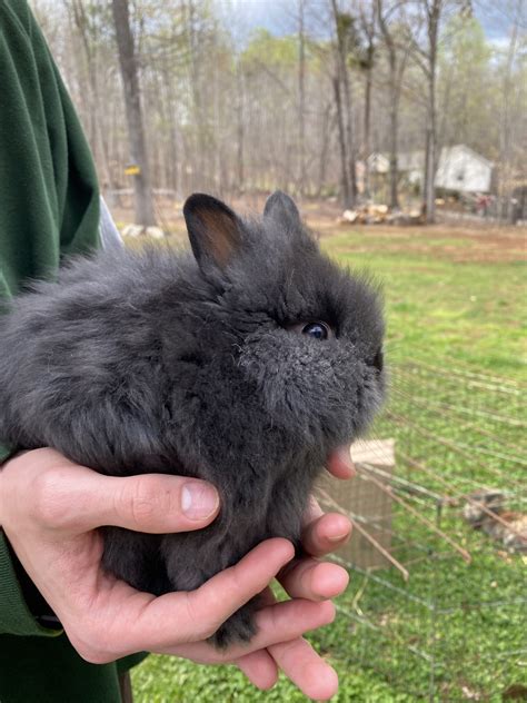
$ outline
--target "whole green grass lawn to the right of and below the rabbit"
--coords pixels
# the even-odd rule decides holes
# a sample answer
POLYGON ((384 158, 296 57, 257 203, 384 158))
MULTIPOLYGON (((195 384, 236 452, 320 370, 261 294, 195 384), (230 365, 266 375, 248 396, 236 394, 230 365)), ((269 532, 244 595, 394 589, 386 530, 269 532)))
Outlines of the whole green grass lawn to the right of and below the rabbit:
MULTIPOLYGON (((384 287, 392 393, 374 434, 395 437, 429 469, 398 461, 397 475, 453 497, 485 485, 525 501, 525 240, 328 226, 321 246, 384 287)), ((435 509, 419 504, 431 521, 435 509)), ((334 700, 501 701, 513 685, 526 686, 526 696, 527 558, 471 531, 459 504, 444 508, 440 526, 471 553, 470 564, 396 507, 408 583, 395 568, 352 572, 337 621, 312 635, 339 673, 334 700)), ((132 680, 140 703, 306 700, 284 680, 261 693, 233 669, 162 656, 132 680)))

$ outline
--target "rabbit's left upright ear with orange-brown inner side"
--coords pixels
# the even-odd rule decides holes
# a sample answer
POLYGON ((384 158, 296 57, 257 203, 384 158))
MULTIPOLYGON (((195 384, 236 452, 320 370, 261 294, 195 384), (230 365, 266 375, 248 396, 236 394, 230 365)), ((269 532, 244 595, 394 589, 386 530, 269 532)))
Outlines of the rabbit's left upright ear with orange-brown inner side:
POLYGON ((241 247, 241 224, 227 205, 201 192, 183 206, 190 246, 203 274, 223 270, 241 247))

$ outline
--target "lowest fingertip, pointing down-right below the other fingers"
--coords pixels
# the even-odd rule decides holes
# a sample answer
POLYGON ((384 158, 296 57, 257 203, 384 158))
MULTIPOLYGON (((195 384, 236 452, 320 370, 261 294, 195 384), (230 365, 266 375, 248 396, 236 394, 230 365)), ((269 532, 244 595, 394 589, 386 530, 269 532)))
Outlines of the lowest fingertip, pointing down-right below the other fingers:
POLYGON ((338 691, 336 671, 304 638, 281 642, 269 647, 269 654, 286 676, 309 699, 327 701, 338 691))

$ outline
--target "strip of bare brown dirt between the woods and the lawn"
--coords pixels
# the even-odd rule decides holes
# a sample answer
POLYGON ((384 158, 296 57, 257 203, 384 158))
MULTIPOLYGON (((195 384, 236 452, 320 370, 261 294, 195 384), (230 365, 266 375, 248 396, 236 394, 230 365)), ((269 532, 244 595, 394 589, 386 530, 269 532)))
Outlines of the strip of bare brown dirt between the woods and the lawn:
MULTIPOLYGON (((258 214, 264 209, 264 196, 247 196, 229 201, 231 207, 243 214, 258 214)), ((112 207, 112 215, 122 229, 133 221, 131 204, 122 202, 112 207)), ((463 222, 460 225, 439 222, 431 226, 391 226, 391 225, 350 225, 340 224, 341 208, 332 201, 306 200, 299 204, 308 226, 320 238, 338 237, 352 232, 364 237, 365 250, 381 247, 386 251, 416 254, 429 253, 434 256, 455 261, 517 261, 527 255, 527 228, 485 222, 463 222)), ((156 214, 158 225, 169 231, 176 241, 185 240, 185 221, 181 214, 182 202, 157 199, 156 214)), ((440 219, 440 214, 438 215, 440 219)), ((354 245, 354 248, 355 245, 354 245)))

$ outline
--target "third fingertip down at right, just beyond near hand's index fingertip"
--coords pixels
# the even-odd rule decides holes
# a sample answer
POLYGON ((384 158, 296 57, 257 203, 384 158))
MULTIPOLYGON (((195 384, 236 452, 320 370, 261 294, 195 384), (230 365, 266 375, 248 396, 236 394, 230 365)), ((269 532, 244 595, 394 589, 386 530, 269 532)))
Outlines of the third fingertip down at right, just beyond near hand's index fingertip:
POLYGON ((346 591, 349 574, 338 564, 305 558, 286 566, 279 581, 292 598, 326 601, 346 591))

